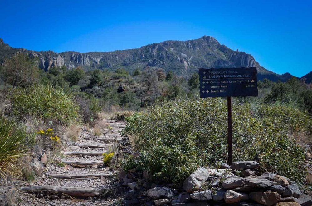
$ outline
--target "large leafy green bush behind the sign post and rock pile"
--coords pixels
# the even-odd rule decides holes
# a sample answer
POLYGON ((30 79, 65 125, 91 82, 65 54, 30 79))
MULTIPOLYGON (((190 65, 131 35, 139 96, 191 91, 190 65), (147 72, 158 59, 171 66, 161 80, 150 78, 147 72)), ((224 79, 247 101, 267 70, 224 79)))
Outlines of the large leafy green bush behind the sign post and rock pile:
MULTIPOLYGON (((221 98, 169 101, 126 120, 123 134, 137 135, 140 155, 124 165, 136 163, 155 178, 182 183, 198 166, 227 162, 227 104, 221 98)), ((304 150, 279 116, 262 118, 249 104, 234 103, 232 123, 233 161, 255 160, 259 172, 303 181, 304 150)))

